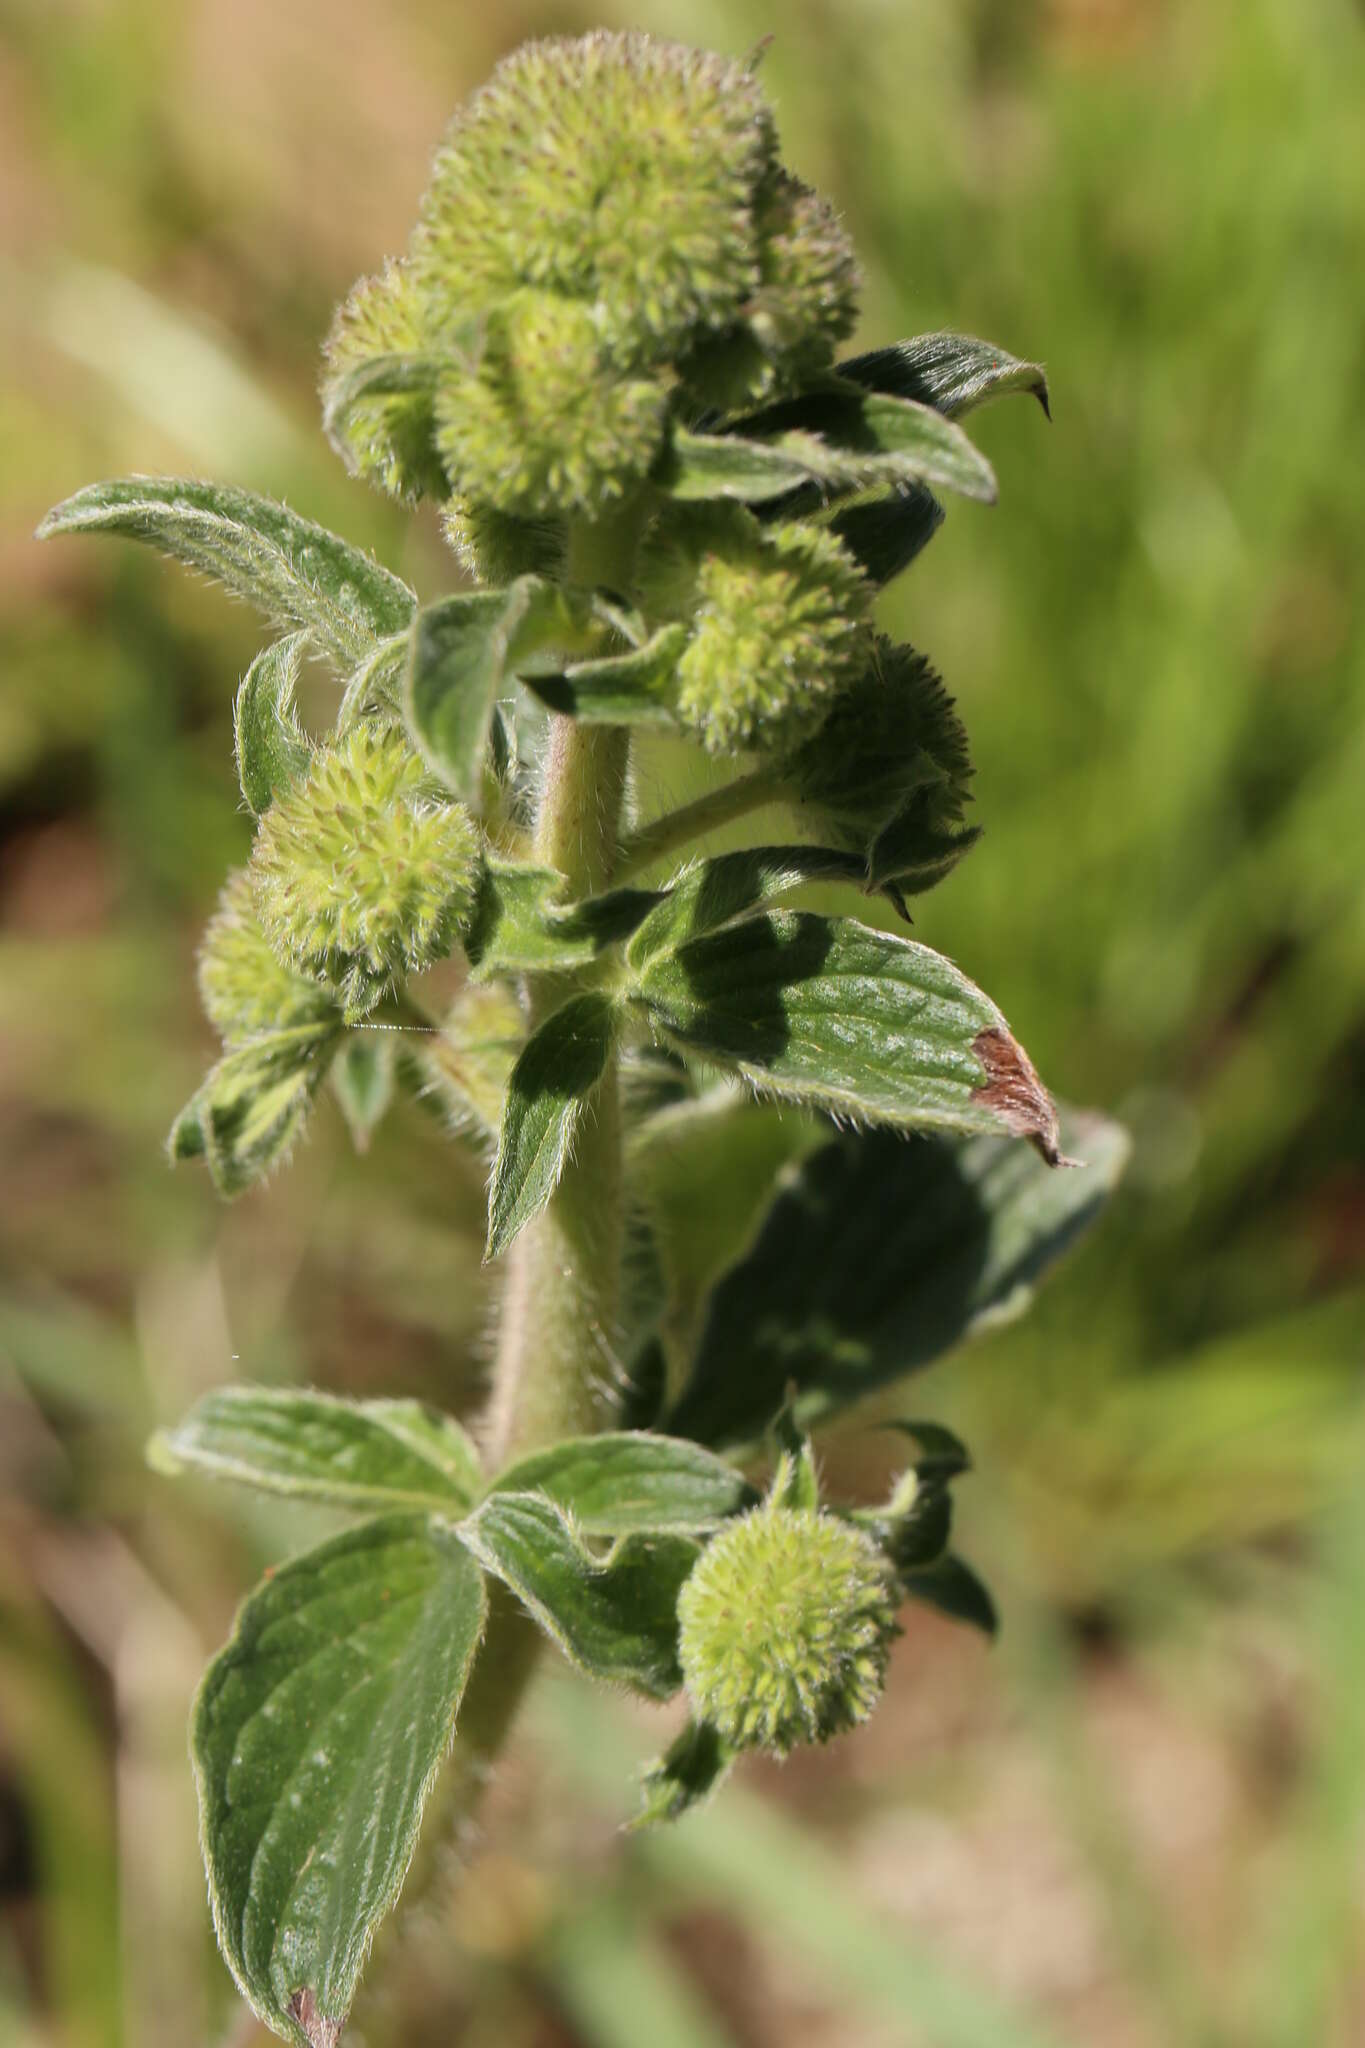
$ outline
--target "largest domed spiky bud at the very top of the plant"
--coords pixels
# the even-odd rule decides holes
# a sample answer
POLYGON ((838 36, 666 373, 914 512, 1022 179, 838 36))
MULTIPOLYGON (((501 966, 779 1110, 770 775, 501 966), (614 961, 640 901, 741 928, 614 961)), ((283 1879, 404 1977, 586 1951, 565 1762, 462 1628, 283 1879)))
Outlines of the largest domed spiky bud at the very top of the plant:
POLYGON ((757 283, 772 125, 726 57, 600 31, 528 43, 456 117, 413 262, 460 315, 522 285, 579 299, 614 360, 663 360, 757 283))

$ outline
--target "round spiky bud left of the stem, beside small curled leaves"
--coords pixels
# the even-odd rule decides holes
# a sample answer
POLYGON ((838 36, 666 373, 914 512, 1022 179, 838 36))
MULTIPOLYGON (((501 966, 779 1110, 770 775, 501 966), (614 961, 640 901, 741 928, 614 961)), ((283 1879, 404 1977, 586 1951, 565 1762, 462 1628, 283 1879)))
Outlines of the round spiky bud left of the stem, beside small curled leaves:
POLYGON ((479 834, 397 733, 356 725, 260 821, 252 887, 278 956, 364 1016, 452 946, 479 834))

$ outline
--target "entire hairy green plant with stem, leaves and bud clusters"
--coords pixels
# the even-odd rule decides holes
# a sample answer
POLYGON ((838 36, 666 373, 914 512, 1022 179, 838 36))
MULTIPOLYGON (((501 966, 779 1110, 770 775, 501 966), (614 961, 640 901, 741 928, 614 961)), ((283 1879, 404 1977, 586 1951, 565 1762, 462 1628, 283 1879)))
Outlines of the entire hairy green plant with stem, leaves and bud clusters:
POLYGON ((397 1085, 493 1151, 491 1481, 411 1401, 235 1389, 153 1442, 166 1470, 383 1511, 260 1585, 194 1710, 219 1942, 309 2048, 403 1882, 485 1610, 456 1806, 530 1616, 596 1679, 688 1692, 645 1819, 745 1749, 864 1722, 902 1599, 995 1620, 950 1550, 960 1444, 917 1425, 890 1499, 833 1509, 800 1425, 1013 1303, 1121 1141, 1093 1122, 1099 1163, 1052 1176, 1056 1108, 990 997, 919 940, 776 905, 819 885, 905 915, 972 844, 962 721, 872 604, 933 489, 995 498, 956 414, 1046 383, 956 336, 839 367, 853 317, 849 242, 751 68, 636 33, 528 45, 456 117, 323 379, 346 463, 436 498, 475 588, 420 604, 199 483, 96 485, 43 528, 151 541, 289 629, 235 702, 254 850, 201 956, 227 1049, 174 1157, 244 1192, 327 1077, 360 1151, 397 1085), (317 739, 309 651, 340 684, 317 739), (751 760, 632 834, 651 731, 751 760), (814 844, 677 862, 759 805, 814 844), (716 1071, 794 1106, 788 1130, 716 1071), (860 1135, 821 1145, 814 1116, 860 1135), (616 1427, 651 1403, 671 1434, 616 1427), (759 1499, 733 1460, 774 1415, 759 1499))

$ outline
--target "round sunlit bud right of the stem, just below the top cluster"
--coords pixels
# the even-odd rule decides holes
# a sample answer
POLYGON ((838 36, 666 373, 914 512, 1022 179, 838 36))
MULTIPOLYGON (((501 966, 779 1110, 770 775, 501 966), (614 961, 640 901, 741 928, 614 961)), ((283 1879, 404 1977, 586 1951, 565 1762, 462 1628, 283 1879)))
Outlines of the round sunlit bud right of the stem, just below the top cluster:
MULTIPOLYGON (((657 590, 677 580, 665 565, 657 590)), ((796 520, 761 526, 739 506, 712 516, 677 664, 679 717, 708 754, 800 741, 866 657, 870 602, 837 535, 796 520)))

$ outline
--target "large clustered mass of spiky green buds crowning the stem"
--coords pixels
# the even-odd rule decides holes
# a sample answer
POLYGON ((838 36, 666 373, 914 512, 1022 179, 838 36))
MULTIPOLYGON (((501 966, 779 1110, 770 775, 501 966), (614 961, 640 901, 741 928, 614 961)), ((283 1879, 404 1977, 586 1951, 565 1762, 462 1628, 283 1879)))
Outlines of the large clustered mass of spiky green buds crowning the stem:
POLYGON ((528 43, 456 117, 407 256, 342 309, 334 432, 403 496, 593 516, 671 406, 739 410, 833 360, 855 289, 749 68, 634 31, 528 43))

